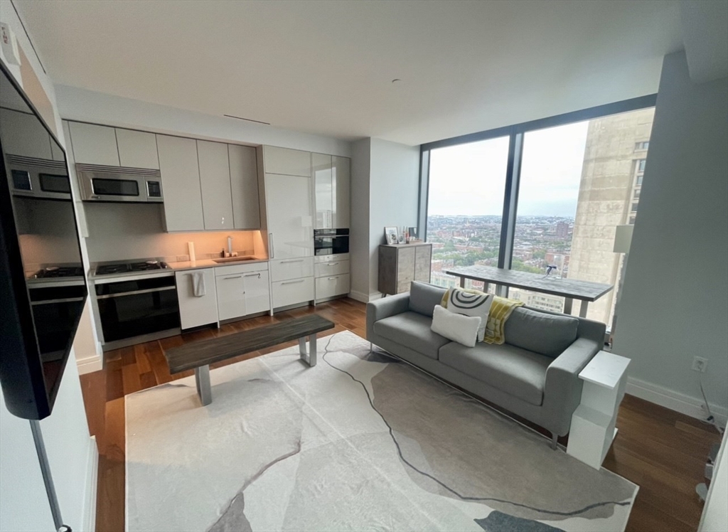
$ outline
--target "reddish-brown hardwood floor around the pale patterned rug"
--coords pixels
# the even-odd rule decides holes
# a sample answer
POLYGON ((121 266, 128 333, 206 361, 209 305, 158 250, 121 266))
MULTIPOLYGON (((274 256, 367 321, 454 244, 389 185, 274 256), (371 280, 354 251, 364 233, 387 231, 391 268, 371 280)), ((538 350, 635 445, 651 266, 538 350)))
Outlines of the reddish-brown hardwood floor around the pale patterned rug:
MULTIPOLYGON (((306 316, 301 308, 261 316, 156 342, 106 353, 102 371, 81 376, 91 434, 99 450, 96 530, 124 530, 124 395, 192 375, 170 375, 164 350, 205 338, 306 316)), ((365 337, 365 305, 344 299, 317 305, 315 312, 336 327, 325 334, 349 330, 365 337)), ((230 359, 214 367, 234 364, 296 342, 277 345, 230 359)), ((633 396, 625 396, 617 420, 620 433, 606 455, 604 466, 640 486, 628 531, 694 531, 703 505, 695 485, 703 482, 708 450, 720 438, 712 427, 633 396)), ((545 442, 546 445, 546 442, 545 442)))

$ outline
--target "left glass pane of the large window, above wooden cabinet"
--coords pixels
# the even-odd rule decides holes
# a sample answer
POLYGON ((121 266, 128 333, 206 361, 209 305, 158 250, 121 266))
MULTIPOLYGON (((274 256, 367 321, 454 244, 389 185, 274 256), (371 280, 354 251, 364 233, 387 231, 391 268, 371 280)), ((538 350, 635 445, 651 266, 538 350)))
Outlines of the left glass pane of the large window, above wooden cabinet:
POLYGON ((448 267, 498 264, 507 162, 507 136, 430 152, 432 283, 457 286, 457 278, 445 273, 448 267))

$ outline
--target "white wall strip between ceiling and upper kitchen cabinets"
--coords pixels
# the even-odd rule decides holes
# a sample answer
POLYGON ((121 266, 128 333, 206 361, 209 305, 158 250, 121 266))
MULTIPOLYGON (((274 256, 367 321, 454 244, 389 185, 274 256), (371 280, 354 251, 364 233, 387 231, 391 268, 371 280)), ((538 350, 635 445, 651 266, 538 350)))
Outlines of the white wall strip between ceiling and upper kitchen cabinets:
POLYGON ((269 144, 341 157, 351 155, 350 143, 336 138, 298 133, 234 118, 215 117, 66 85, 57 85, 55 90, 60 116, 68 120, 207 138, 213 141, 233 141, 253 146, 269 144))

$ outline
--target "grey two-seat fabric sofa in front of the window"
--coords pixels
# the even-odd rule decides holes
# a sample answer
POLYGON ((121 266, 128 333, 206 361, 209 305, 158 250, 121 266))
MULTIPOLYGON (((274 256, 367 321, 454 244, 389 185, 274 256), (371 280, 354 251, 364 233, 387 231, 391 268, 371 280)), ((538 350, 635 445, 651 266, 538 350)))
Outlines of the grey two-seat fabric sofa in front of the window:
POLYGON ((528 307, 505 324, 505 343, 451 342, 430 330, 446 290, 413 282, 410 292, 368 303, 367 340, 464 390, 536 423, 556 438, 579 406, 579 372, 604 345, 597 321, 528 307))

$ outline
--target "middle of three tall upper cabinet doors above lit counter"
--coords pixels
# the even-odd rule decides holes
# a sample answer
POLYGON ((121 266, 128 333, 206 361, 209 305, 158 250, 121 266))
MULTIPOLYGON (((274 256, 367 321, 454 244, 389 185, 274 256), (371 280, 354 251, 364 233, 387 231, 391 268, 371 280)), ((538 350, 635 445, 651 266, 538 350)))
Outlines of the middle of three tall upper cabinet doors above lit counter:
POLYGON ((227 144, 197 141, 197 157, 205 229, 232 229, 234 224, 227 144))

